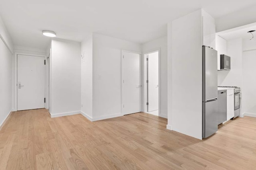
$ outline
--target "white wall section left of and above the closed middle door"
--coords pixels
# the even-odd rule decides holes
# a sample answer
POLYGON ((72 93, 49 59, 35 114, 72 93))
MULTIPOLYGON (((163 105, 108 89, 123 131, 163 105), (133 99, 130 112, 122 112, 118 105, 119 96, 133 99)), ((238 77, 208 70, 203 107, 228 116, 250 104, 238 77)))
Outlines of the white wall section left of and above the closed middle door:
POLYGON ((141 51, 141 45, 93 34, 93 118, 122 115, 121 51, 141 51))

